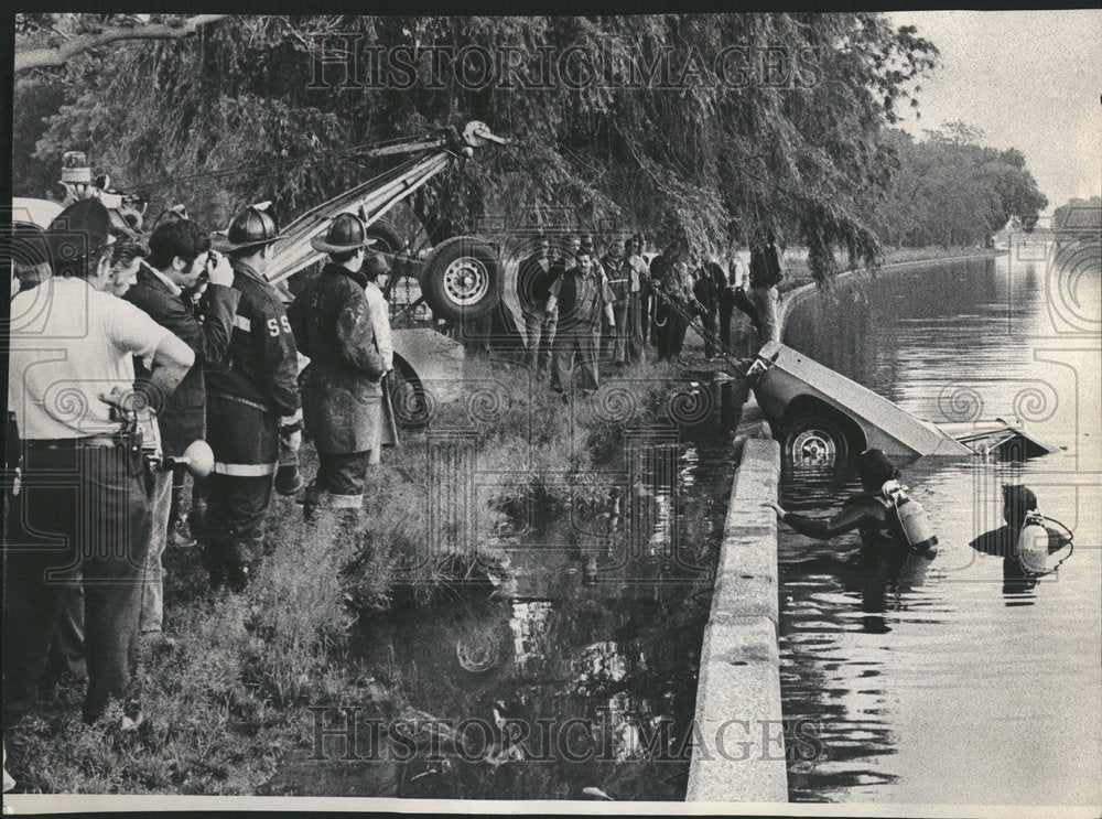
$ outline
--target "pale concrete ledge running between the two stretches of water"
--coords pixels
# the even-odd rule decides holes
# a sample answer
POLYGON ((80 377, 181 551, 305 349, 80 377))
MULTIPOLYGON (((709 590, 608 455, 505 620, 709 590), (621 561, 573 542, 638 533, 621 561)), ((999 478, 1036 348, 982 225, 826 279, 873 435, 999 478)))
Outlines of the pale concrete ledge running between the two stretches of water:
POLYGON ((777 518, 764 506, 777 499, 779 475, 777 442, 746 438, 701 649, 698 733, 685 795, 690 801, 788 801, 777 647, 777 518))

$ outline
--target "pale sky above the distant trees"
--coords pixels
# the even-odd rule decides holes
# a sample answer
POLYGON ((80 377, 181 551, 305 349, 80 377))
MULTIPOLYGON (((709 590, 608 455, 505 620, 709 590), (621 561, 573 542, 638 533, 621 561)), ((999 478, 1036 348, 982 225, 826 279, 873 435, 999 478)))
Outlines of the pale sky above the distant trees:
MULTIPOLYGON (((1048 196, 1102 195, 1102 11, 898 11, 941 51, 921 82, 916 137, 963 120, 993 148, 1017 148, 1048 196)), ((911 109, 914 110, 914 109, 911 109)))

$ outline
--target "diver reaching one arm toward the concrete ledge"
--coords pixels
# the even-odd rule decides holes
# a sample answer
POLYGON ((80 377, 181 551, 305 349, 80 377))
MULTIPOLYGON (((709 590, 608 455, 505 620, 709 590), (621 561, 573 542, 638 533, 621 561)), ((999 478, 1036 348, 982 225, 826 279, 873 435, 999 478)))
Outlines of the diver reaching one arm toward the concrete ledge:
POLYGON ((907 496, 899 471, 880 450, 865 450, 857 465, 863 492, 846 499, 842 510, 825 520, 795 515, 769 502, 777 517, 800 535, 831 540, 857 529, 866 548, 895 545, 932 559, 938 538, 930 530, 926 511, 907 496))

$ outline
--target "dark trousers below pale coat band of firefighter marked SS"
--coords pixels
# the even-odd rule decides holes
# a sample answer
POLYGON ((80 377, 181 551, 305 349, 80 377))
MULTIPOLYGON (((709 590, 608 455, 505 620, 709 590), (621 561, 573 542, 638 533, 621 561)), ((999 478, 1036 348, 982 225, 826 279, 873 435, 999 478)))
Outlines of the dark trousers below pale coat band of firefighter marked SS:
POLYGON ((236 572, 260 556, 264 521, 272 497, 272 475, 222 475, 206 479, 206 530, 203 553, 207 570, 236 572))

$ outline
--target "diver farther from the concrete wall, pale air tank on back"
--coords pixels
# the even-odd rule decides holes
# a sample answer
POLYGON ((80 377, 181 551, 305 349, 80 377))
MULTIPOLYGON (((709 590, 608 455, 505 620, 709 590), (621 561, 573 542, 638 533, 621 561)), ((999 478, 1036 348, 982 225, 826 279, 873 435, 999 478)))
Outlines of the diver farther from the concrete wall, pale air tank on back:
POLYGON ((1071 546, 1072 534, 1037 510, 1037 495, 1029 487, 1003 486, 1003 520, 1006 526, 984 532, 970 546, 1003 559, 1004 593, 1033 589, 1042 575, 1051 574, 1071 557, 1069 550, 1049 568, 1049 556, 1071 546))

